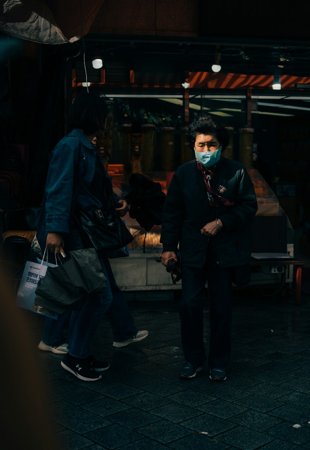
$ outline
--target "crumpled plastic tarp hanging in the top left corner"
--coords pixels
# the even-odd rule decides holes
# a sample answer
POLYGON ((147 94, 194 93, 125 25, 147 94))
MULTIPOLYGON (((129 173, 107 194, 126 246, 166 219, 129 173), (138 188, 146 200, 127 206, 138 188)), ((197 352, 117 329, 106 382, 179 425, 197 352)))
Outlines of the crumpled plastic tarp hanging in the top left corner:
POLYGON ((102 3, 103 0, 5 0, 0 9, 0 31, 44 44, 75 42, 82 37, 82 28, 84 36, 88 33, 102 3))

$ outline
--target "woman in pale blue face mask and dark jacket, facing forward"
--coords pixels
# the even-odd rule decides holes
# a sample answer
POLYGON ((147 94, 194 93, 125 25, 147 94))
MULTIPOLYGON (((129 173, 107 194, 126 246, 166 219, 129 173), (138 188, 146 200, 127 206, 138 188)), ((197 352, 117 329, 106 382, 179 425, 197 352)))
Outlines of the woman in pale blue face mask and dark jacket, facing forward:
POLYGON ((186 130, 195 159, 178 168, 162 216, 162 264, 182 255, 180 320, 185 357, 182 378, 193 378, 207 360, 203 302, 210 298, 210 378, 226 379, 231 352, 231 288, 249 280, 251 223, 257 211, 252 181, 239 162, 222 156, 229 134, 209 115, 186 130), (246 279, 248 278, 248 279, 246 279))

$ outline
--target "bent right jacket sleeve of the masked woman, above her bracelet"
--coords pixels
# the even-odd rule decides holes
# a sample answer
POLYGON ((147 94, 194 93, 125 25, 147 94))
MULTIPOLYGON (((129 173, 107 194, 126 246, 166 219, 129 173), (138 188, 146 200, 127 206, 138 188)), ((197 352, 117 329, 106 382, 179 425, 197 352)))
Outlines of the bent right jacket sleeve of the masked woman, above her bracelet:
POLYGON ((241 228, 246 223, 251 224, 257 211, 257 201, 252 180, 243 168, 238 184, 234 207, 219 218, 226 231, 241 228))

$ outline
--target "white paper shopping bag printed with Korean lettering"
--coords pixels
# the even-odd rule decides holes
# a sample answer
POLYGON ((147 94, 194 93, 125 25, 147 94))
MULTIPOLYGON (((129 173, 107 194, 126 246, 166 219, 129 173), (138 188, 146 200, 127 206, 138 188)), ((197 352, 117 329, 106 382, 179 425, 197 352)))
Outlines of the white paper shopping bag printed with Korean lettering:
MULTIPOLYGON (((46 248, 45 248, 46 252, 46 248)), ((37 306, 34 304, 36 297, 36 286, 39 279, 44 278, 48 266, 57 267, 56 264, 51 264, 44 261, 45 252, 42 261, 37 258, 40 262, 27 261, 24 272, 22 274, 22 279, 19 284, 18 293, 16 297, 16 305, 20 308, 27 309, 29 311, 36 312, 51 319, 58 319, 58 314, 54 311, 49 311, 42 306, 37 306)), ((56 259, 56 256, 55 256, 56 259)))

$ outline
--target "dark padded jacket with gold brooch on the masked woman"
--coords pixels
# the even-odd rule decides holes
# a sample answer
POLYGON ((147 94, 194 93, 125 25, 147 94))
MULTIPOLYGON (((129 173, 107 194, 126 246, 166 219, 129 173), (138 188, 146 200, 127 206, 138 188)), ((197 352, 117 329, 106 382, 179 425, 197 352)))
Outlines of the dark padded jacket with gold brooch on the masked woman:
POLYGON ((211 188, 234 201, 234 206, 210 207, 204 180, 195 160, 180 166, 172 177, 162 215, 163 251, 175 251, 180 243, 182 265, 202 267, 207 254, 207 236, 201 234, 207 223, 221 219, 224 228, 212 243, 220 267, 246 265, 251 257, 251 223, 257 211, 254 186, 246 168, 239 162, 220 158, 210 180, 211 188))

